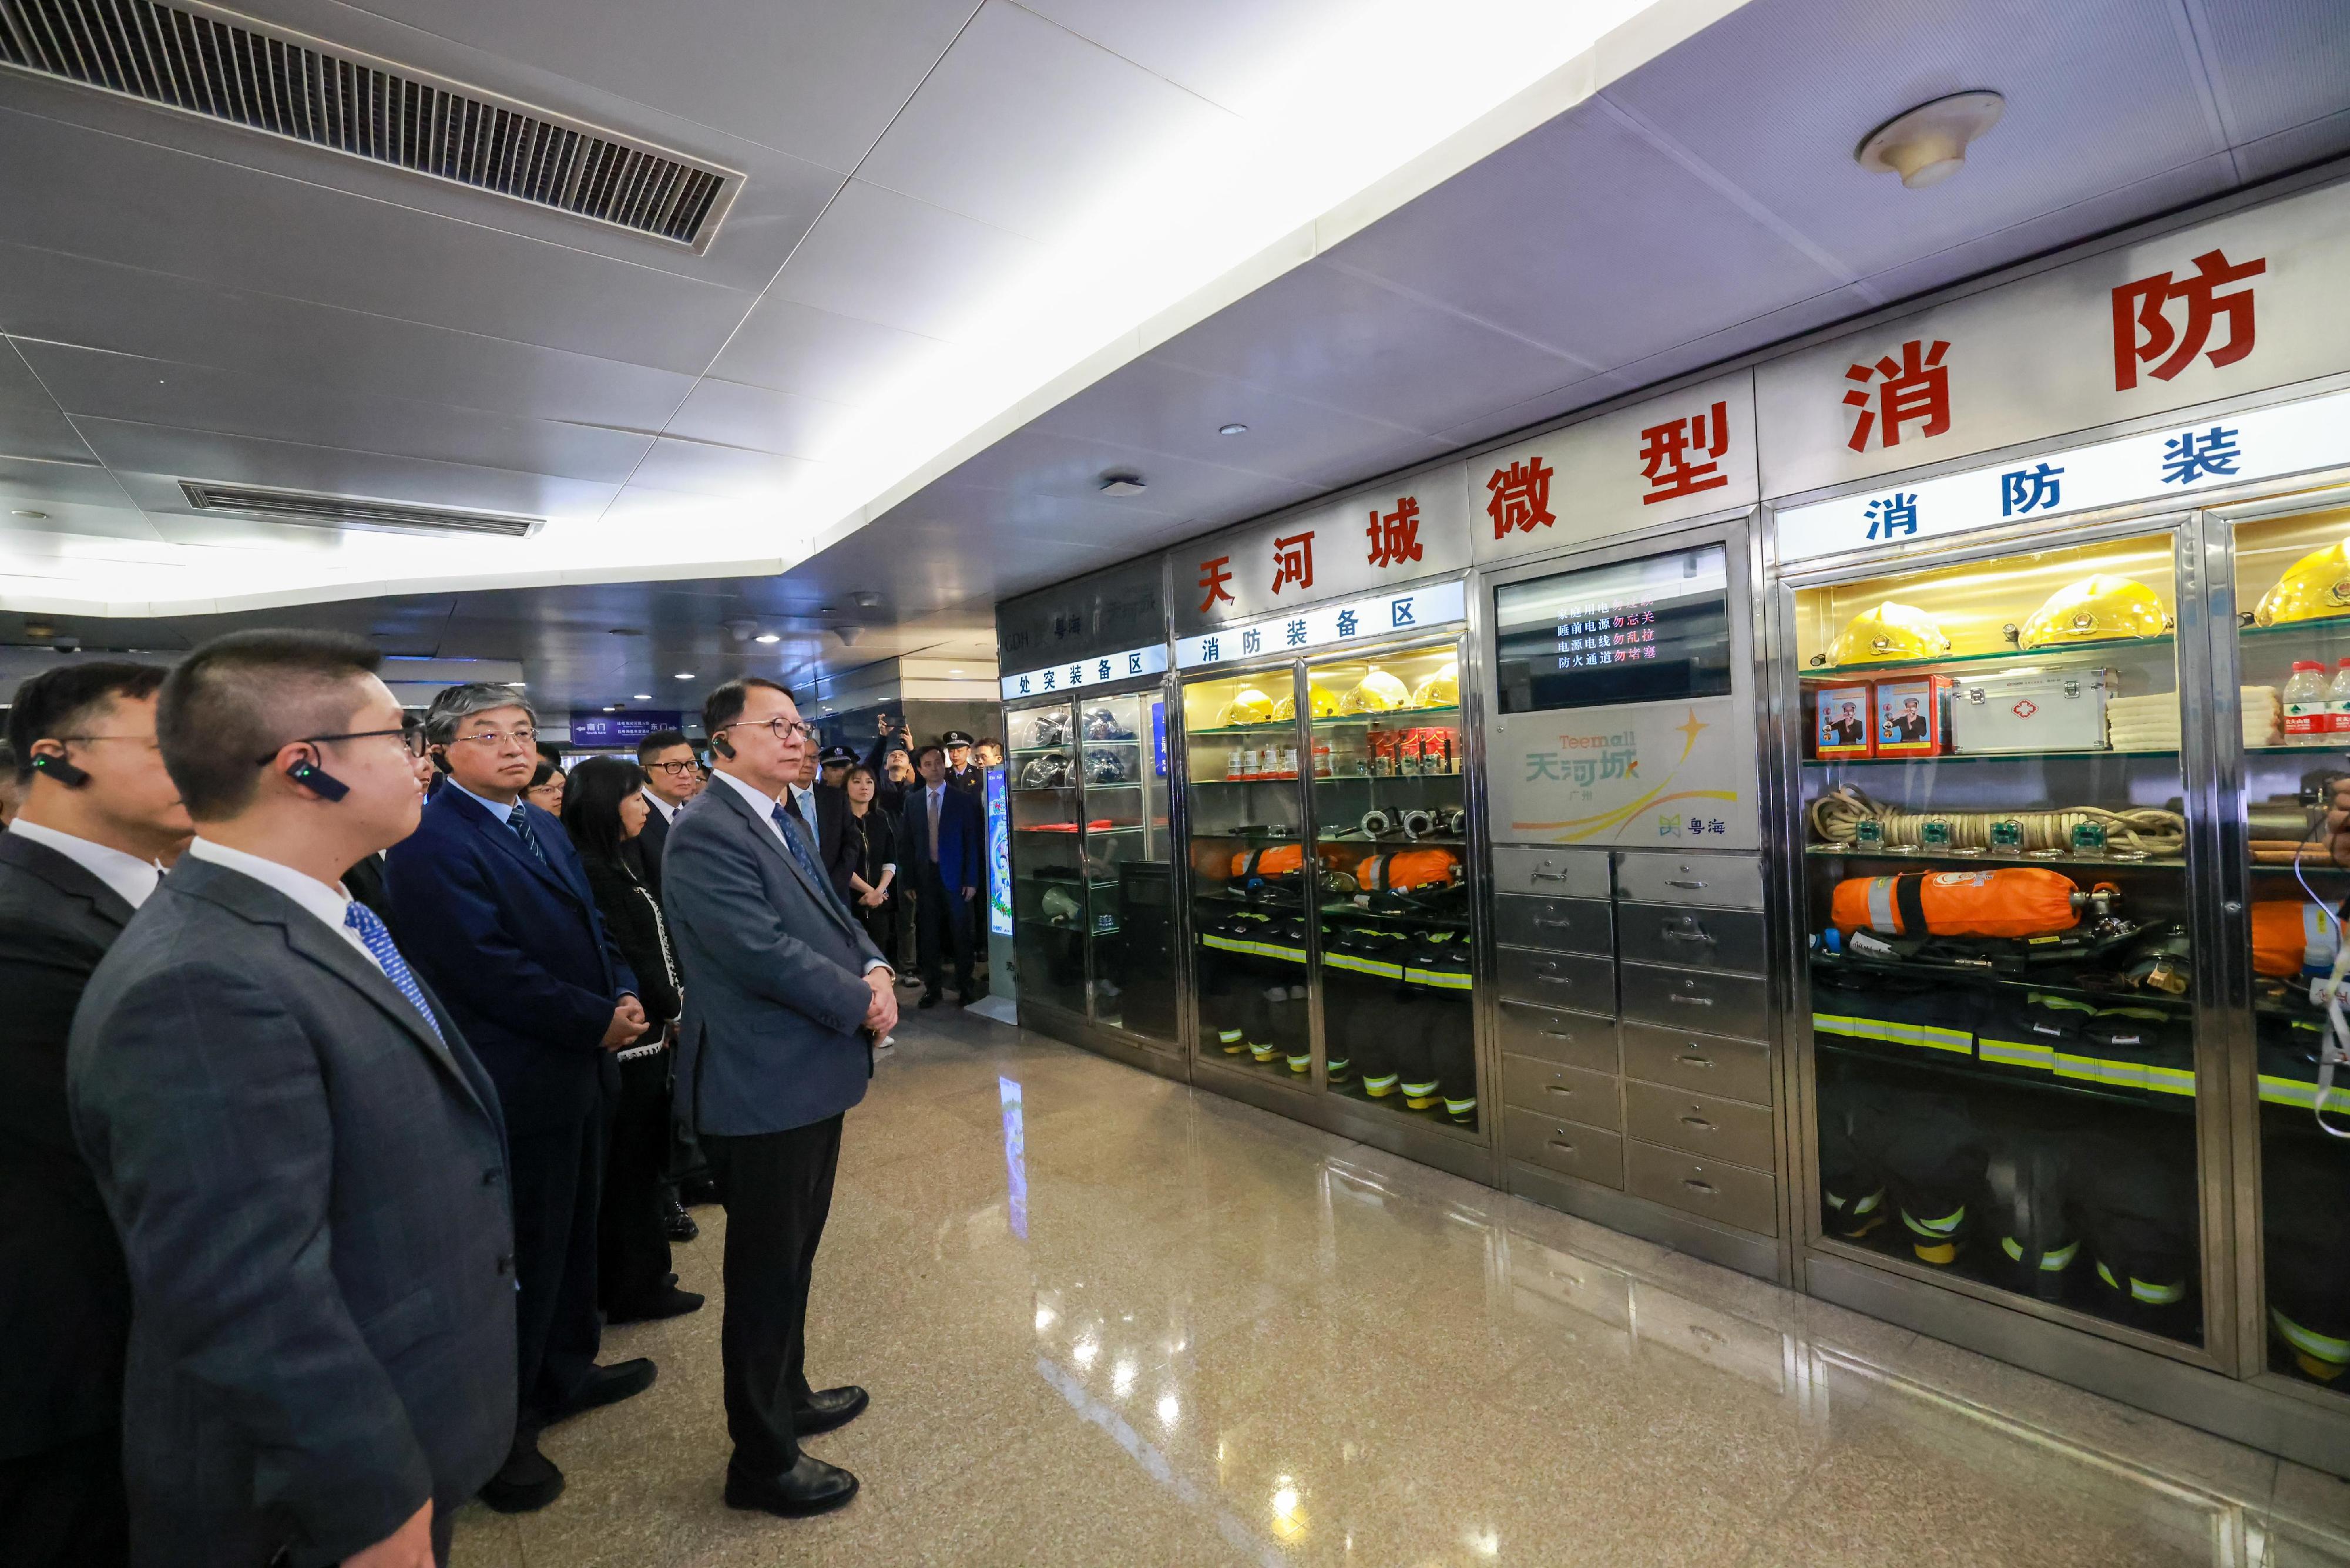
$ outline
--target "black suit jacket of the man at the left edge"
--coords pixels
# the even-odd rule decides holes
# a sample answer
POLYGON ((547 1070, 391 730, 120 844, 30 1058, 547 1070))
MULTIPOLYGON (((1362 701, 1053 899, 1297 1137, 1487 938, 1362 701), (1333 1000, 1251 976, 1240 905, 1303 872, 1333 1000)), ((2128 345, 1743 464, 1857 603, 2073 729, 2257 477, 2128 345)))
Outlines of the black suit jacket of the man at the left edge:
POLYGON ((66 1034, 132 907, 0 832, 0 1458, 122 1420, 132 1281, 66 1119, 66 1034))

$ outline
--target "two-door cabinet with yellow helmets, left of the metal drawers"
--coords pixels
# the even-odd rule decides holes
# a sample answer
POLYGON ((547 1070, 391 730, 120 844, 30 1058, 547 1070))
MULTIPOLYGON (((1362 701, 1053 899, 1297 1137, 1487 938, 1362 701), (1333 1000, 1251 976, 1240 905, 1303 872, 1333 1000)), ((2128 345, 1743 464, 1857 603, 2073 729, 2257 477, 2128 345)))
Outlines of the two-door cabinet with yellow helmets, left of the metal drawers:
POLYGON ((1177 684, 1194 1081, 1492 1182, 1459 625, 1177 684))

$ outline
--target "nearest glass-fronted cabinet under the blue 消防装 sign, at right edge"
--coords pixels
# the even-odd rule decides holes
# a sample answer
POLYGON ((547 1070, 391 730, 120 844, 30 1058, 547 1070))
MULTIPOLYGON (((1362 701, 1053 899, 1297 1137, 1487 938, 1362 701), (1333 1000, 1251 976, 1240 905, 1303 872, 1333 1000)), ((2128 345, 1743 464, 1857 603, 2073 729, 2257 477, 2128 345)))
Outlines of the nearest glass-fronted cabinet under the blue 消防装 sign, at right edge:
POLYGON ((2287 745, 2280 689, 2350 658, 2350 567, 2308 564, 2345 501, 1774 569, 1765 646, 1802 1288, 2334 1472, 2350 1143, 2305 978, 2350 731, 2287 745))

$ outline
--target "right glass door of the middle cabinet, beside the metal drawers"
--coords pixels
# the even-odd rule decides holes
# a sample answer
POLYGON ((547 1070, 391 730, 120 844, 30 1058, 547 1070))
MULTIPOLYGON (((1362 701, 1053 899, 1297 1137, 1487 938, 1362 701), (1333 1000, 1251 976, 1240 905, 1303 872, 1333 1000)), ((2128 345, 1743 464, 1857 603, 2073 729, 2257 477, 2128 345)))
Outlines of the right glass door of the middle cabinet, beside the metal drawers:
POLYGON ((1325 1081, 1478 1124, 1459 646, 1307 665, 1325 1081))

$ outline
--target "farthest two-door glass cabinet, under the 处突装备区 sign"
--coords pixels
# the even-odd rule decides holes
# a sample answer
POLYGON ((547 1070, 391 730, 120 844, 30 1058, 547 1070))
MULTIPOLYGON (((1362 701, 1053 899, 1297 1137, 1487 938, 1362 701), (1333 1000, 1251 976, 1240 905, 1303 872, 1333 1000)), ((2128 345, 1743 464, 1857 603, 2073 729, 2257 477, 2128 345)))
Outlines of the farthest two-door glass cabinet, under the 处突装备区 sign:
POLYGON ((1008 703, 1020 1023, 1184 1074, 1163 682, 1008 703))

